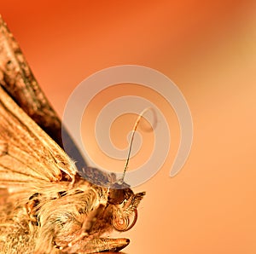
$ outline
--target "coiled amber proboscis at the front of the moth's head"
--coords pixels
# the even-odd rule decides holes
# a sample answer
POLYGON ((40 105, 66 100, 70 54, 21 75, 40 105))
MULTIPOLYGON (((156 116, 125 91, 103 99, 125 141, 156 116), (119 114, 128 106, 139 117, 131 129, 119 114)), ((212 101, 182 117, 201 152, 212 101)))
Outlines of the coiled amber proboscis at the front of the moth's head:
POLYGON ((130 230, 137 222, 137 209, 135 209, 129 216, 113 216, 113 228, 117 231, 130 230))

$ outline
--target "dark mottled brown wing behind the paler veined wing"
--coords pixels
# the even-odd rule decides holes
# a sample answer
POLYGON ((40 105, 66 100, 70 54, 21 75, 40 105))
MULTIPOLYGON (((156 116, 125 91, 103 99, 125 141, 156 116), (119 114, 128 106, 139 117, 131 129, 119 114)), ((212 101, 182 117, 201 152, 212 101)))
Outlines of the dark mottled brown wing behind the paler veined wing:
POLYGON ((77 162, 79 169, 86 167, 79 148, 40 89, 18 43, 9 32, 1 15, 0 86, 60 147, 64 148, 63 141, 65 142, 65 152, 77 162))

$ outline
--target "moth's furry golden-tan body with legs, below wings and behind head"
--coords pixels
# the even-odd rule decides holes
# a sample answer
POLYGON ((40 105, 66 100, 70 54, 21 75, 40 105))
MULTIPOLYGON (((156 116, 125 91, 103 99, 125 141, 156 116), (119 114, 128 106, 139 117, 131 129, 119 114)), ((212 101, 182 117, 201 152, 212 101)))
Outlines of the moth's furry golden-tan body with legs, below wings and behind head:
POLYGON ((117 209, 107 204, 107 193, 107 189, 79 182, 71 189, 61 183, 9 195, 0 211, 0 250, 90 253, 102 248, 121 249, 128 244, 127 240, 100 238, 113 231, 113 214, 117 209))

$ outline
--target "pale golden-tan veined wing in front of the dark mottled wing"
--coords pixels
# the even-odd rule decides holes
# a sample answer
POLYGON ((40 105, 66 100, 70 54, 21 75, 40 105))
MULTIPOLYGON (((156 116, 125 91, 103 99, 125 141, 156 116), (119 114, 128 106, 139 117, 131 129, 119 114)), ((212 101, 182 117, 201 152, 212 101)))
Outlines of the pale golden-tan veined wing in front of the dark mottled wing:
POLYGON ((73 160, 0 87, 0 188, 72 181, 73 160))

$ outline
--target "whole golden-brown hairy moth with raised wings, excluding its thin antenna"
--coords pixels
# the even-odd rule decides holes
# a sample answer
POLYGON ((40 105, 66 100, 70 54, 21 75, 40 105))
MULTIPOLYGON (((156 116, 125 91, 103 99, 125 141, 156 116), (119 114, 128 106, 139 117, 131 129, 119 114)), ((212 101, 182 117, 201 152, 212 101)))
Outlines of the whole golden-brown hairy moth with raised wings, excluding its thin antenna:
POLYGON ((61 120, 0 17, 0 253, 95 253, 129 244, 108 234, 134 226, 145 193, 87 166, 64 136, 65 152, 61 120))

